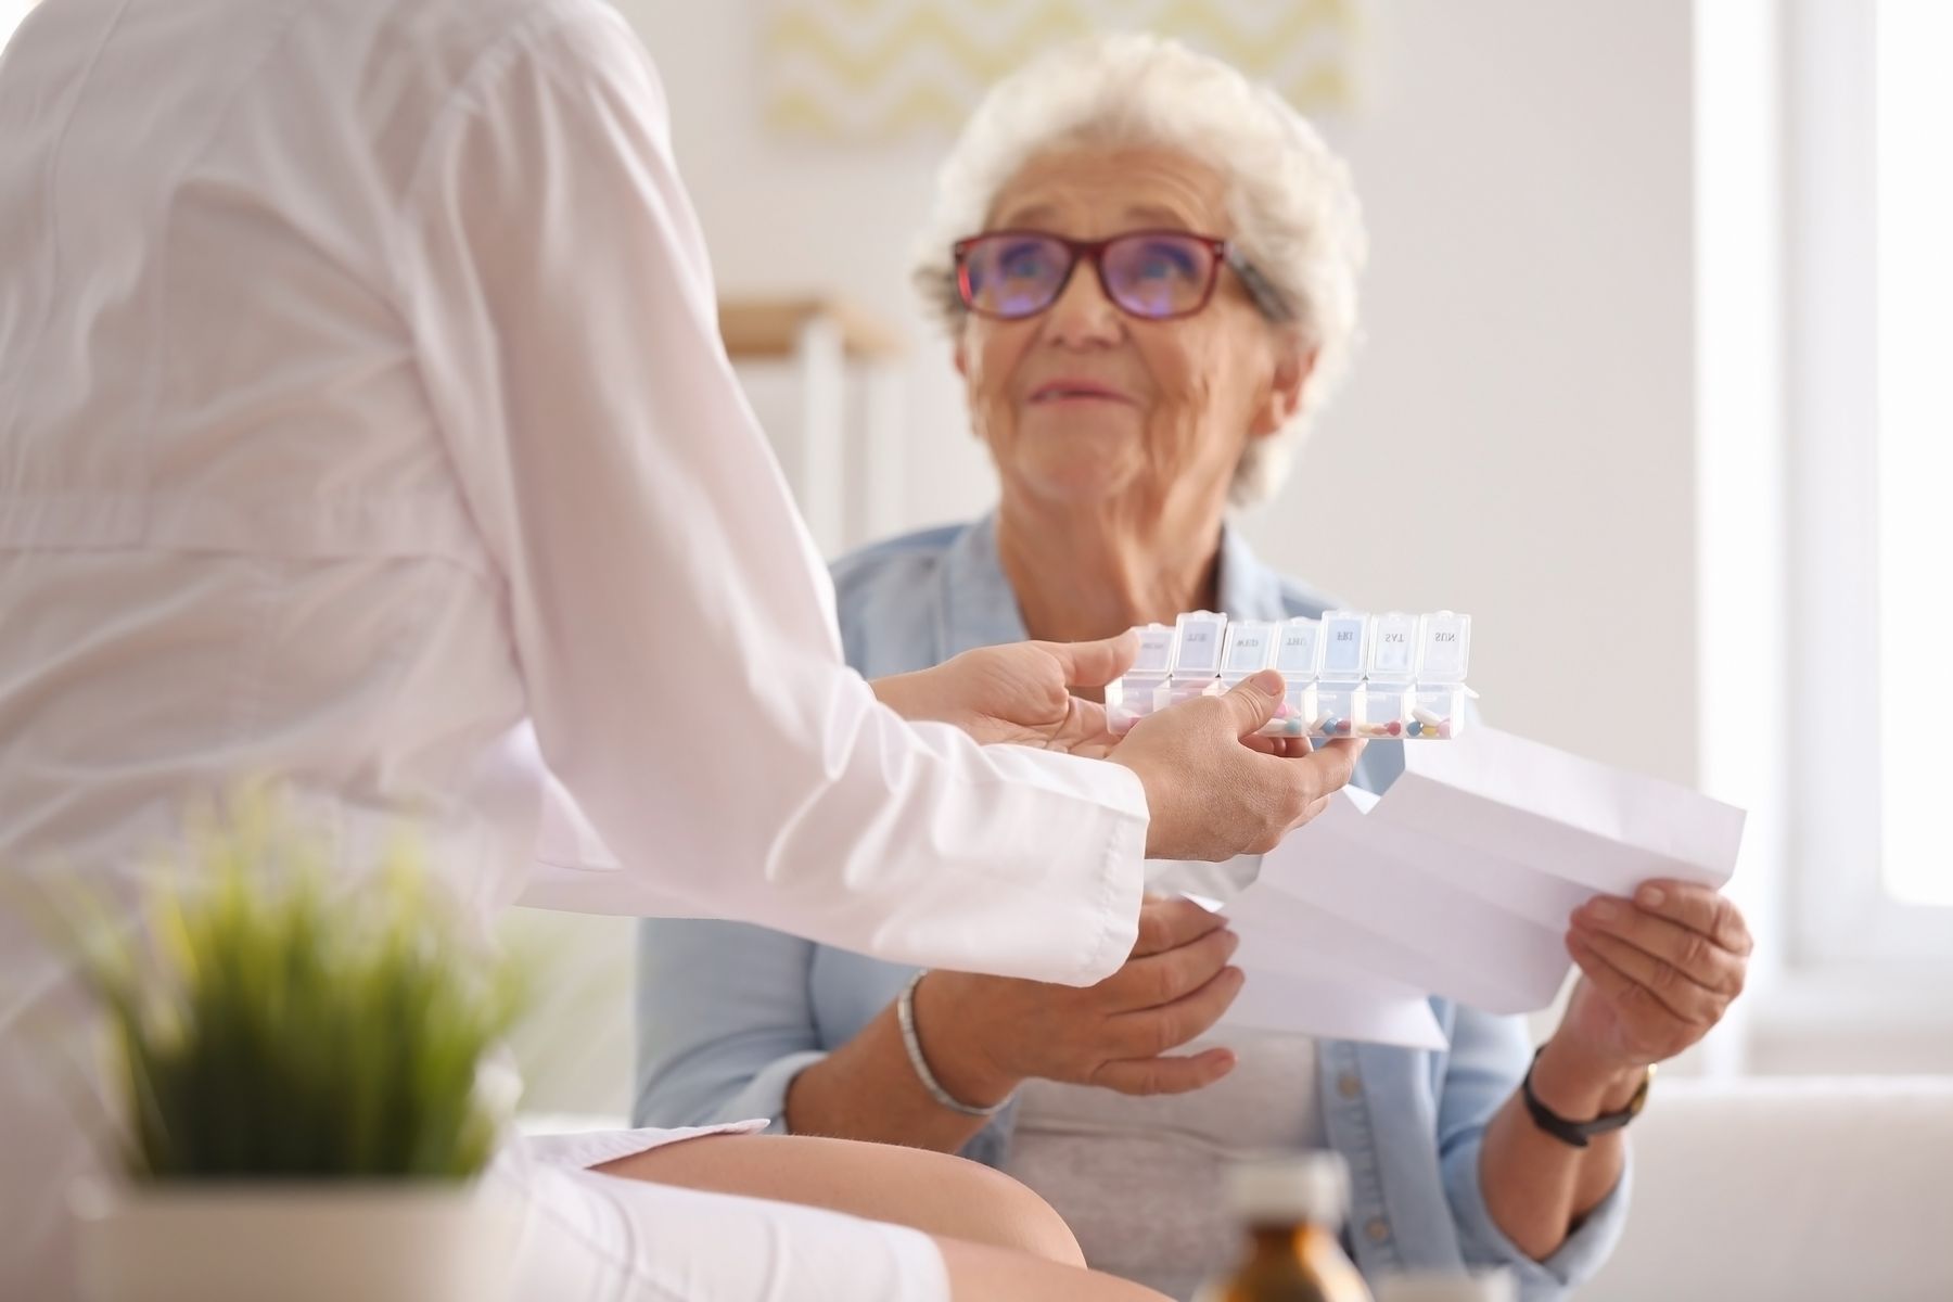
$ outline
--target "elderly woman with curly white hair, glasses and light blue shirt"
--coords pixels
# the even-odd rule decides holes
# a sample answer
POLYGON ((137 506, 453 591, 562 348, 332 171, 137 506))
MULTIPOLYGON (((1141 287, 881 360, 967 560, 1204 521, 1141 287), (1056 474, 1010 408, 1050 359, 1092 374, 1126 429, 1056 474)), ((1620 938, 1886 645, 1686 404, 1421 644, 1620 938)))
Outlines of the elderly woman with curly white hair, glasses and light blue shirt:
MULTIPOLYGON (((1344 166, 1221 62, 1107 37, 1000 84, 941 172, 916 279, 1002 498, 836 566, 852 664, 900 673, 1201 607, 1320 615, 1225 513, 1275 488, 1344 369, 1361 262, 1344 166)), ((1357 781, 1400 765, 1371 746, 1357 781)), ((1230 884, 1254 865, 1226 865, 1230 884)), ((1650 882, 1582 908, 1566 947, 1584 980, 1533 1058, 1523 1021, 1443 999, 1445 1052, 1207 1042, 1242 974, 1230 931, 1184 900, 1148 904, 1131 960, 1090 990, 652 921, 637 1119, 963 1152, 1049 1199, 1092 1265, 1174 1296, 1232 1251, 1219 1158, 1334 1148, 1365 1273, 1506 1267, 1551 1298, 1619 1234, 1619 1126, 1650 1066, 1738 994, 1750 941, 1724 900, 1650 882)))

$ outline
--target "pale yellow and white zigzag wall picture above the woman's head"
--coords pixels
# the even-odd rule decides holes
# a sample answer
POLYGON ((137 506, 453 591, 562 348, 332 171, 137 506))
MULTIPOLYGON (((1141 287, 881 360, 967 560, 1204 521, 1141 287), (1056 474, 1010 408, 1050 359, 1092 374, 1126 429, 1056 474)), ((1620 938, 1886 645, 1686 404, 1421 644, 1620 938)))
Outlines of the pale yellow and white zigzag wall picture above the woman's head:
MULTIPOLYGON (((773 61, 803 57, 836 82, 838 96, 855 105, 873 100, 877 90, 893 88, 904 68, 914 66, 924 51, 935 53, 971 78, 971 88, 988 86, 1012 72, 1031 55, 1105 27, 1143 25, 1162 35, 1182 37, 1252 76, 1275 76, 1285 61, 1310 37, 1330 33, 1340 45, 1316 59, 1305 72, 1277 82, 1291 102, 1305 107, 1340 105, 1351 98, 1342 47, 1355 31, 1357 0, 1295 0, 1279 8, 1271 25, 1244 23, 1236 14, 1242 0, 1228 6, 1219 0, 1168 0, 1160 6, 1117 4, 1113 0, 1047 0, 1023 10, 1010 0, 773 0, 773 16, 766 27, 766 51, 773 61), (1023 10, 1008 21, 1006 8, 1023 10), (887 20, 894 23, 867 45, 848 41, 844 31, 887 20)), ((848 113, 842 105, 824 102, 809 88, 779 84, 768 102, 768 117, 775 127, 801 135, 830 139, 898 135, 912 127, 955 129, 973 107, 969 88, 961 94, 945 86, 916 86, 887 105, 871 109, 873 123, 863 125, 863 111, 848 113)))

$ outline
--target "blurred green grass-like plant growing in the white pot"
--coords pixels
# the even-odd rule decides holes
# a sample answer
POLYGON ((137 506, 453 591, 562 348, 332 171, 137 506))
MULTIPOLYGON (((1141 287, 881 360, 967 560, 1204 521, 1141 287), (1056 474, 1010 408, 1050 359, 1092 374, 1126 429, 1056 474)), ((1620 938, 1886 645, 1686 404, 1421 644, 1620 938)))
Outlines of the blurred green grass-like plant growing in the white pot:
POLYGON ((203 820, 135 935, 76 929, 137 1181, 467 1179, 506 1103, 480 1064, 523 982, 402 839, 357 884, 260 793, 203 820))

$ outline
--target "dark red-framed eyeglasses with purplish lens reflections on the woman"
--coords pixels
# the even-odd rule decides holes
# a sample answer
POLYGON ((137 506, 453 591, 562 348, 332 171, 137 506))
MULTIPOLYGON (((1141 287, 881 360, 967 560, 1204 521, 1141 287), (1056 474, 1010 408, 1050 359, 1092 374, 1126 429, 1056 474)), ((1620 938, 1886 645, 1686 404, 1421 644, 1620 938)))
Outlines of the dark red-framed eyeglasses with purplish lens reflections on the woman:
POLYGON ((988 230, 951 246, 957 293, 978 316, 1023 320, 1064 293, 1080 258, 1090 258, 1100 289, 1143 320, 1191 316, 1213 299, 1221 265, 1234 267, 1269 320, 1287 320, 1275 287, 1226 240, 1187 230, 1127 230, 1109 240, 1066 240, 1045 230, 988 230))

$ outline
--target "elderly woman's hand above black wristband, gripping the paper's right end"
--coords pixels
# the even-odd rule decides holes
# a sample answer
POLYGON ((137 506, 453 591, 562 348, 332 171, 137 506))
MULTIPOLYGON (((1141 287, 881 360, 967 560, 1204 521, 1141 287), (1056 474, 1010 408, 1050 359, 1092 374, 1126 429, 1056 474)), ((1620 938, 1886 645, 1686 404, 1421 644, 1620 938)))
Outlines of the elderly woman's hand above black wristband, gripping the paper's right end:
POLYGON ((1707 886, 1654 880, 1631 900, 1596 896, 1566 933, 1586 980, 1555 1040, 1600 1070, 1674 1058, 1742 994, 1752 947, 1742 912, 1707 886))

